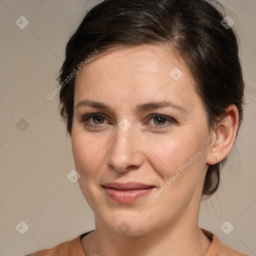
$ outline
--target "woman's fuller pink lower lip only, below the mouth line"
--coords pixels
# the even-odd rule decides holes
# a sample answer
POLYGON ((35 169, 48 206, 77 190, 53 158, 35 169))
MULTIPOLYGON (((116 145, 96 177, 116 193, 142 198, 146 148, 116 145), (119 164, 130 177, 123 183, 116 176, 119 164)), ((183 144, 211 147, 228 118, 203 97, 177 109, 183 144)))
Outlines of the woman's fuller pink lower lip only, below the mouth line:
POLYGON ((117 190, 109 187, 104 187, 106 194, 115 202, 129 203, 148 194, 154 187, 130 189, 130 190, 117 190))

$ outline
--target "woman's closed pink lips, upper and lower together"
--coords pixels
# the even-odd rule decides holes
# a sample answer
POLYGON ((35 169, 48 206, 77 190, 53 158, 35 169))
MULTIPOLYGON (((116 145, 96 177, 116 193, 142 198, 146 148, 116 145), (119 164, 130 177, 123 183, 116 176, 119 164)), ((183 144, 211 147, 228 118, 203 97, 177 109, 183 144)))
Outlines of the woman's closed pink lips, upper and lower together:
POLYGON ((154 186, 137 182, 109 182, 102 185, 106 194, 115 202, 129 203, 149 193, 154 186))

